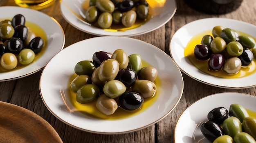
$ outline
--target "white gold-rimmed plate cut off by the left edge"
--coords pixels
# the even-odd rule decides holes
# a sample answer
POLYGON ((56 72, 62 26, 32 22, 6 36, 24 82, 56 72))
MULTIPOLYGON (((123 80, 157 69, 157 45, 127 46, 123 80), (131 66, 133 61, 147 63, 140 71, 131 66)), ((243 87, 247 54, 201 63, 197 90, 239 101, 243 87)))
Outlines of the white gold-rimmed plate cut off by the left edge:
POLYGON ((0 81, 15 80, 38 72, 43 69, 55 54, 63 49, 65 44, 64 31, 54 18, 49 17, 40 11, 18 6, 1 6, 0 13, 4 13, 0 15, 0 19, 12 18, 16 14, 24 15, 26 21, 40 26, 45 31, 48 42, 47 49, 36 62, 18 70, 0 73, 0 81))

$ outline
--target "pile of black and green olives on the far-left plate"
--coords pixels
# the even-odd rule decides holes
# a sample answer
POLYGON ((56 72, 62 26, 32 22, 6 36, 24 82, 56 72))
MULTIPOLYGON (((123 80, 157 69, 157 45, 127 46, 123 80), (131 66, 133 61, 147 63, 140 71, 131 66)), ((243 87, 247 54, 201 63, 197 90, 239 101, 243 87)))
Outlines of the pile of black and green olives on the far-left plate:
POLYGON ((44 46, 43 39, 36 37, 25 22, 21 14, 0 22, 0 65, 6 70, 28 65, 44 46))

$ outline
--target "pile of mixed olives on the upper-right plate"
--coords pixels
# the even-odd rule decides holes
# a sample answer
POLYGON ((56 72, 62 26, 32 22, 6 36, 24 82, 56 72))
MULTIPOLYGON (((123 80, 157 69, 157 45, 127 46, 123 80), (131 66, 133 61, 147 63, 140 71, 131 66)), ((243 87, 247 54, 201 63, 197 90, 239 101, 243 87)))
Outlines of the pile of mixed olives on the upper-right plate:
POLYGON ((256 55, 255 40, 252 37, 240 35, 236 30, 222 26, 215 26, 212 35, 204 35, 194 49, 198 60, 209 60, 210 70, 236 74, 241 67, 252 63, 256 55))

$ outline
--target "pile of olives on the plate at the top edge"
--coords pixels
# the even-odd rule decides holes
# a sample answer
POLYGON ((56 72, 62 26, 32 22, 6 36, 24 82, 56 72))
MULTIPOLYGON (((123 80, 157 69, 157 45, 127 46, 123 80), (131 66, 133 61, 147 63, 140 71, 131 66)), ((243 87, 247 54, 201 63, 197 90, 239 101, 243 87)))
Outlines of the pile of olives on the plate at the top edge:
POLYGON ((148 16, 146 0, 90 0, 85 20, 108 29, 112 24, 132 26, 135 21, 145 20, 148 16))

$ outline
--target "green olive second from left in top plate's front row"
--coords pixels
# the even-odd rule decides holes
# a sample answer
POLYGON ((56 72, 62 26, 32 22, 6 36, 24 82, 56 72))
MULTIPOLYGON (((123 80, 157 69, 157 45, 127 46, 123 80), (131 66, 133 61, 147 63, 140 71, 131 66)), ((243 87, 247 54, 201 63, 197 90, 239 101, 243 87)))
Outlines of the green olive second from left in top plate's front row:
POLYGON ((108 12, 104 12, 99 15, 97 23, 102 29, 108 29, 112 24, 112 20, 112 15, 108 12))

